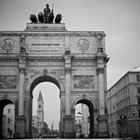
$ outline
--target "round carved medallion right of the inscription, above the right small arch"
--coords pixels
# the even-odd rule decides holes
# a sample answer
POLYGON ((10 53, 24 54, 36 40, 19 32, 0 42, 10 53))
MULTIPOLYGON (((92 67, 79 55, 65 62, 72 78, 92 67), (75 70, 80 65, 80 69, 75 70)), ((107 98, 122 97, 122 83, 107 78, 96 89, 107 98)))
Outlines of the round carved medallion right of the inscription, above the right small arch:
POLYGON ((85 52, 89 49, 89 42, 87 39, 81 38, 77 41, 77 47, 80 51, 85 52))

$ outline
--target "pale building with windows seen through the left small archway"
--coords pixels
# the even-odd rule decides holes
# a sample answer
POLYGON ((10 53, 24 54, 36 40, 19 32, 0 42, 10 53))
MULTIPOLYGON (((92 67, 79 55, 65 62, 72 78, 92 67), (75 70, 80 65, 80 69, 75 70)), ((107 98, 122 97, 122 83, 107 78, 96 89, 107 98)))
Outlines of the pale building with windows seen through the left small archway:
POLYGON ((15 133, 15 106, 13 104, 5 106, 2 122, 3 137, 13 138, 15 133))

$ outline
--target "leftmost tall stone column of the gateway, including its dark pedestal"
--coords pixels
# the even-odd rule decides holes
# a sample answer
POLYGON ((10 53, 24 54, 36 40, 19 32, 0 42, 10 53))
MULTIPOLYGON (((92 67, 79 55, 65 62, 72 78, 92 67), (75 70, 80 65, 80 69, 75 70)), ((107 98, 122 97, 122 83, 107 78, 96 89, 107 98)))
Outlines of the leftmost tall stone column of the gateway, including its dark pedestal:
POLYGON ((16 118, 16 138, 25 138, 25 116, 24 116, 24 79, 25 79, 25 57, 19 57, 19 99, 18 117, 16 118))

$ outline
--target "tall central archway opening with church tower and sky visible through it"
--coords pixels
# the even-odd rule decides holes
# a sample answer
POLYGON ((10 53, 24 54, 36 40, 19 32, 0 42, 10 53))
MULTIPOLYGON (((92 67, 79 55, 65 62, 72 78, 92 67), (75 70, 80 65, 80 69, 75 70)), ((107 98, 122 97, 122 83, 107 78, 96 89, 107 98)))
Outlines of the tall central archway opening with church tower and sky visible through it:
POLYGON ((32 86, 32 136, 57 137, 60 122, 60 86, 52 77, 36 79, 32 86), (37 80, 37 81, 36 81, 37 80))

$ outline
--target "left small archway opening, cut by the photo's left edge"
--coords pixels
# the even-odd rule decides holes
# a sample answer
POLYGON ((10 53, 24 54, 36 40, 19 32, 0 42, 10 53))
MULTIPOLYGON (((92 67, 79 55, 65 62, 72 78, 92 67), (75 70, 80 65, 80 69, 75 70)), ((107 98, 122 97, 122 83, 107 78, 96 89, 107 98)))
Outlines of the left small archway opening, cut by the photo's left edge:
POLYGON ((9 99, 0 101, 0 138, 13 138, 15 133, 15 105, 9 99))

